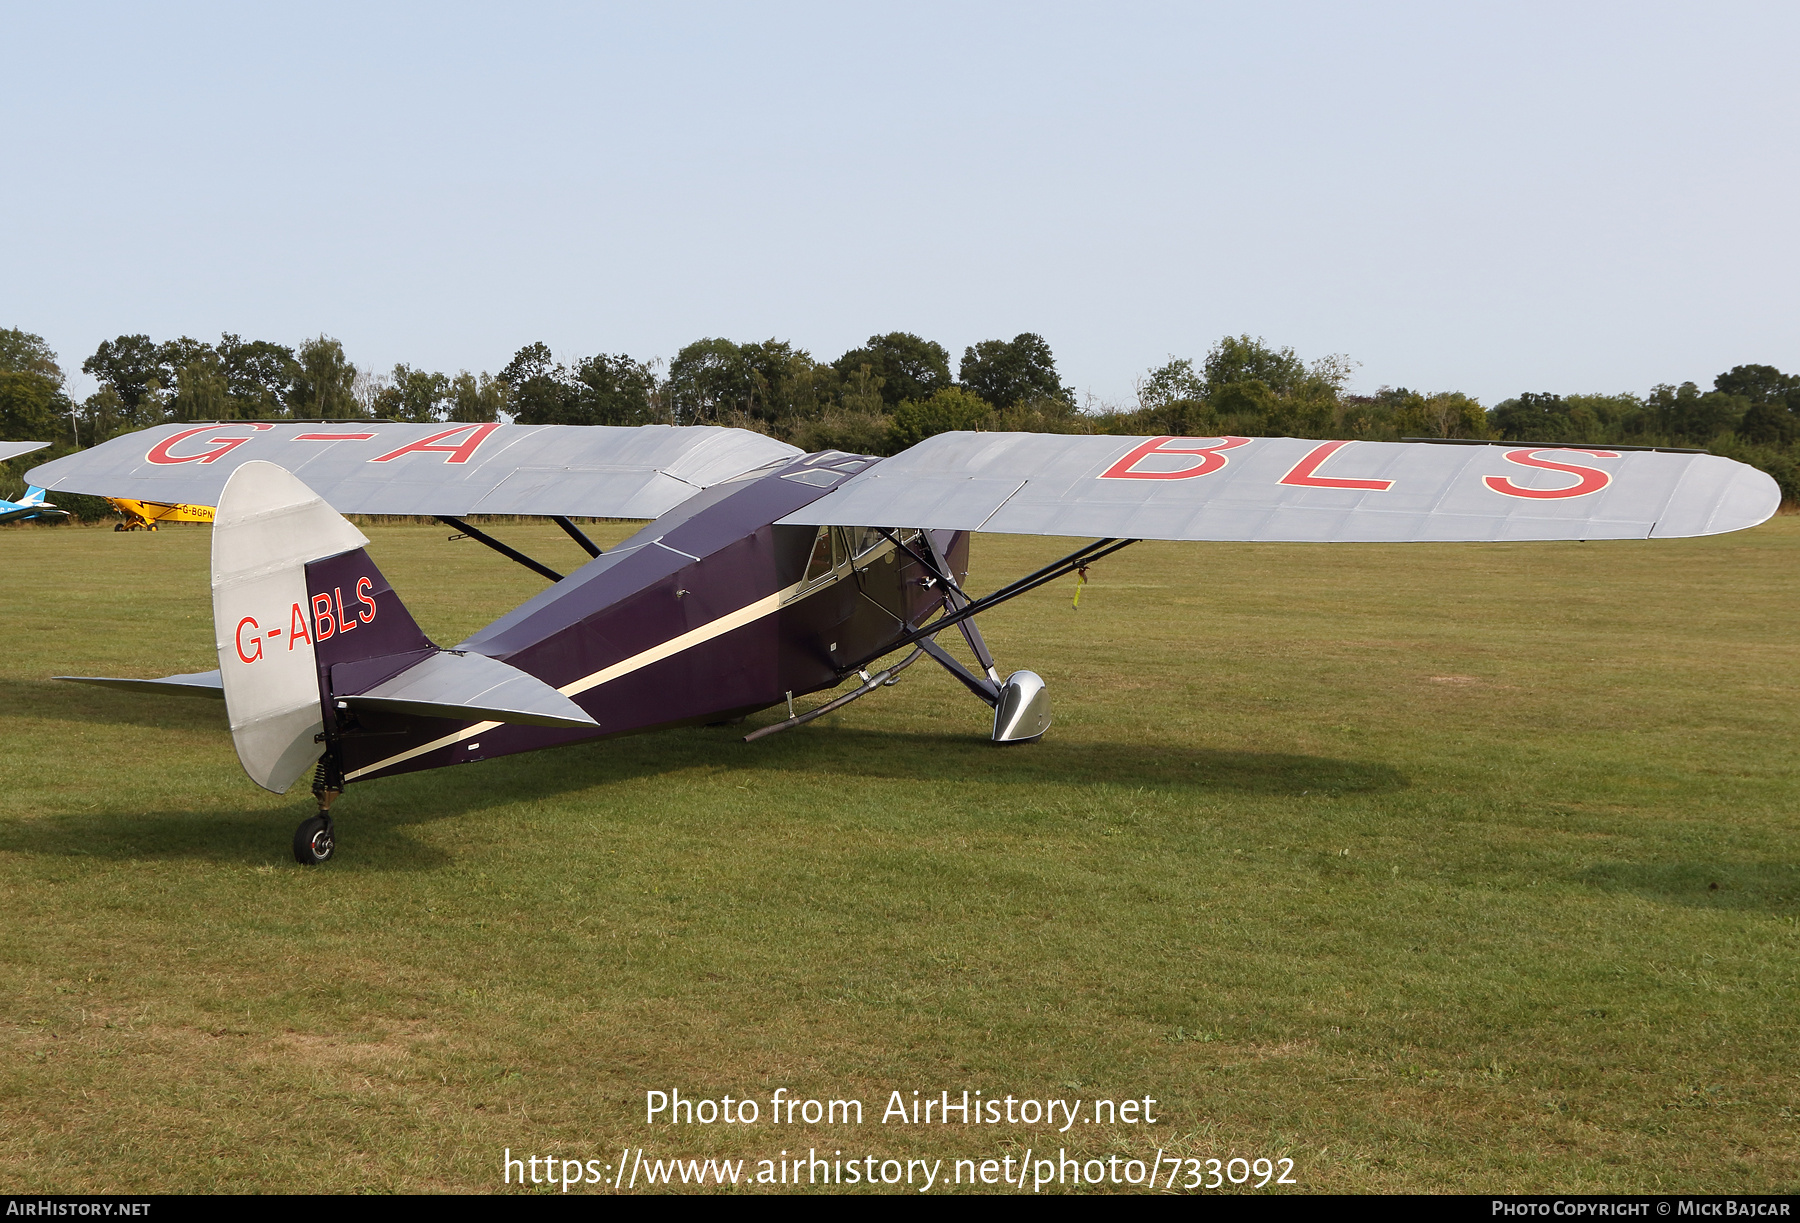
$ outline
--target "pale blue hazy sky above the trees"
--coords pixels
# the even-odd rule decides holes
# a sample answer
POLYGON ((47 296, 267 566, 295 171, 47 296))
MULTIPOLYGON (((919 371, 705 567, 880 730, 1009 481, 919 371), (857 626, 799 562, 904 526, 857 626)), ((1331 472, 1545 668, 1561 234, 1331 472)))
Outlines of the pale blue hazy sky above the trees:
MULTIPOLYGON (((0 326, 385 369, 1222 333, 1381 384, 1800 369, 1800 7, 0 5, 0 326)), ((85 380, 83 380, 85 382, 85 380)))

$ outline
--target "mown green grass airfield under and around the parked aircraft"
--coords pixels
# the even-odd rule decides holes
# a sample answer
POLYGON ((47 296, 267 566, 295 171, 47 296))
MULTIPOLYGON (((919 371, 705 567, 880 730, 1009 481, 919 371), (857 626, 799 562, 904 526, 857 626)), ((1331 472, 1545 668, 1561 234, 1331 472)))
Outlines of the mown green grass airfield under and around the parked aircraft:
MULTIPOLYGON (((443 528, 367 530, 443 643, 542 587, 443 528)), ((1800 1187, 1800 517, 1141 544, 1078 611, 1060 584, 983 621, 1049 681, 1042 744, 988 746, 922 663, 758 744, 355 785, 319 870, 288 852, 304 787, 257 791, 220 706, 47 681, 214 666, 207 546, 0 530, 7 1191, 1058 1146, 1289 1156, 1301 1191, 1800 1187), (871 1111, 646 1126, 668 1088, 871 1111), (945 1088, 1161 1122, 877 1122, 945 1088)), ((983 537, 970 585, 1060 551, 983 537)))

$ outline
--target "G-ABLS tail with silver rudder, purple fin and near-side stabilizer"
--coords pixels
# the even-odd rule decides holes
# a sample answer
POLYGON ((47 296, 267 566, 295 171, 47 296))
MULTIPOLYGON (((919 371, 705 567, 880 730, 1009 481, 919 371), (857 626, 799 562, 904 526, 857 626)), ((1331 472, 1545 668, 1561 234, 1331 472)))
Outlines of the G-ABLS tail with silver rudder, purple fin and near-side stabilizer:
POLYGON ((367 542, 274 463, 245 463, 225 483, 212 524, 212 623, 232 742, 252 782, 277 794, 293 785, 337 710, 594 726, 542 679, 432 645, 367 542))

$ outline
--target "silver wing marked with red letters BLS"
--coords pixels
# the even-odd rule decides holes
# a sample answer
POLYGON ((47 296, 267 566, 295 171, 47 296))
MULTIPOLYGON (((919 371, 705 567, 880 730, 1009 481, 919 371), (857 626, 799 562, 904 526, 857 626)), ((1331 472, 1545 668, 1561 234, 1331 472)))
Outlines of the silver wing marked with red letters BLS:
POLYGON ((1109 539, 1411 542, 1715 535, 1777 483, 1712 454, 947 432, 785 519, 1109 539))

